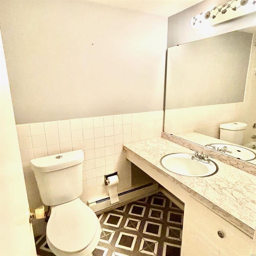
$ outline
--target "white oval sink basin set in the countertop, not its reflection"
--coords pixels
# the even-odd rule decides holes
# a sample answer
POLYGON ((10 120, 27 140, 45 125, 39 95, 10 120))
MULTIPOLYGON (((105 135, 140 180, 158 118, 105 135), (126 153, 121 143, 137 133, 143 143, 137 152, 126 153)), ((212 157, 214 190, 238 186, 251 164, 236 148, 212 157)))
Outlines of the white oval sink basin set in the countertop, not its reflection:
POLYGON ((193 154, 173 153, 163 156, 160 164, 164 169, 183 176, 207 177, 218 172, 218 166, 210 160, 210 163, 203 163, 196 159, 191 159, 193 154))

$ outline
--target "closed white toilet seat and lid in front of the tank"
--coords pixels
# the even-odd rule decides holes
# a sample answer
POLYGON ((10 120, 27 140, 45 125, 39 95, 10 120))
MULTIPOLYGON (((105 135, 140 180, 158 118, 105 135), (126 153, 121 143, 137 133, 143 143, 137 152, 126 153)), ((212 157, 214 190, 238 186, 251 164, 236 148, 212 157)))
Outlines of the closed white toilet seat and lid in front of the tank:
POLYGON ((80 252, 94 241, 98 226, 96 214, 77 198, 52 207, 46 235, 56 249, 68 253, 80 252))

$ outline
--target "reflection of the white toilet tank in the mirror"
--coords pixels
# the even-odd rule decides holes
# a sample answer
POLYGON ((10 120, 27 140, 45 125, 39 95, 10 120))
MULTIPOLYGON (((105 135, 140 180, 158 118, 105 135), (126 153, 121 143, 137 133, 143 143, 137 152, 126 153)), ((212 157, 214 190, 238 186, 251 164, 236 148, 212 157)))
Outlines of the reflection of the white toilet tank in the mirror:
POLYGON ((234 144, 242 145, 246 127, 247 124, 242 122, 221 124, 220 140, 225 140, 234 144))

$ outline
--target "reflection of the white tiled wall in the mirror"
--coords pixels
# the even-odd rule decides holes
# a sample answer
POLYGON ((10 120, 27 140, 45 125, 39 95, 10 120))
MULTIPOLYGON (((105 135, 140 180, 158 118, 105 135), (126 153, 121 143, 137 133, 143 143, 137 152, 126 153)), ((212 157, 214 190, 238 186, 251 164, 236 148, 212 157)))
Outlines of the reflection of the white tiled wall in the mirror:
POLYGON ((164 131, 174 135, 198 132, 219 138, 220 124, 240 121, 242 108, 243 102, 238 102, 166 110, 164 131))

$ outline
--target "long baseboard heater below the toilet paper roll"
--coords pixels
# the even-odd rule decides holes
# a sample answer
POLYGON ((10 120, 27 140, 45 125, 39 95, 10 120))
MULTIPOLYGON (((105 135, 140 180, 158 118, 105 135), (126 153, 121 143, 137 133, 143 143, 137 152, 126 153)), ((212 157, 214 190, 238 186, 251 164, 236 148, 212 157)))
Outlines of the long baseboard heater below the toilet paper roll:
POLYGON ((98 212, 98 211, 102 211, 106 208, 110 208, 112 206, 114 206, 114 208, 116 208, 116 206, 118 206, 119 204, 122 204, 124 202, 129 203, 134 201, 134 200, 138 200, 143 198, 144 196, 147 196, 147 194, 150 194, 151 192, 156 192, 158 190, 158 183, 153 183, 150 182, 148 184, 139 186, 137 188, 132 188, 130 190, 126 190, 124 192, 118 193, 118 197, 119 197, 119 202, 116 204, 111 204, 110 203, 110 197, 106 197, 106 198, 102 198, 99 200, 88 200, 87 205, 90 206, 90 208, 92 208, 92 210, 94 212, 98 212))

